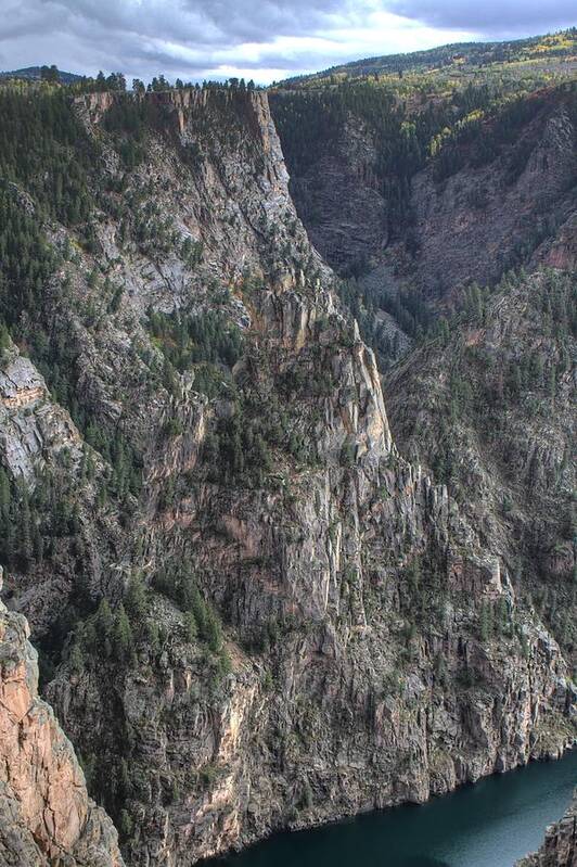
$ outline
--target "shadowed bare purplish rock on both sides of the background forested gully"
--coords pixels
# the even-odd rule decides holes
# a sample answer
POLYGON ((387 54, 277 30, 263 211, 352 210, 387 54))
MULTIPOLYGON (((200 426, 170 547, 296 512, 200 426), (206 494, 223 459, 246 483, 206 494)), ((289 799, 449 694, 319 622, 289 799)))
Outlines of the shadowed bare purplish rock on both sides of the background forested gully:
MULTIPOLYGON (((282 102, 282 97, 273 102, 278 115, 282 102)), ((508 137, 501 135, 507 107, 502 115, 487 117, 457 149, 454 168, 439 173, 429 161, 413 174, 405 225, 399 225, 395 202, 387 197, 374 130, 351 111, 335 141, 317 143, 318 161, 302 171, 290 165, 298 214, 316 247, 337 271, 384 262, 395 268, 401 284, 436 301, 454 302, 471 280, 499 280, 541 243, 547 250, 538 254, 541 259, 572 267, 574 106, 570 86, 531 94, 523 119, 508 137), (490 158, 478 155, 483 139, 497 139, 490 158), (550 251, 557 233, 562 238, 550 251)), ((394 109, 388 111, 394 114, 394 109)), ((409 119, 422 122, 424 114, 422 106, 413 106, 409 119)))

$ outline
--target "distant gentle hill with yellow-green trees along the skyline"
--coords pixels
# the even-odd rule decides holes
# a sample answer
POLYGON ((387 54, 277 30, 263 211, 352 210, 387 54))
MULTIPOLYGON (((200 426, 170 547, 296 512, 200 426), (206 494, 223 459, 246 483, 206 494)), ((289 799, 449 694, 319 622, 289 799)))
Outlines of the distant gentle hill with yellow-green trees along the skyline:
POLYGON ((308 76, 288 79, 300 82, 330 76, 358 77, 387 73, 425 72, 439 66, 485 66, 492 63, 510 63, 520 60, 543 61, 557 58, 575 58, 577 54, 577 28, 570 27, 547 36, 531 36, 509 42, 453 42, 426 51, 407 54, 385 54, 376 58, 332 66, 308 76))

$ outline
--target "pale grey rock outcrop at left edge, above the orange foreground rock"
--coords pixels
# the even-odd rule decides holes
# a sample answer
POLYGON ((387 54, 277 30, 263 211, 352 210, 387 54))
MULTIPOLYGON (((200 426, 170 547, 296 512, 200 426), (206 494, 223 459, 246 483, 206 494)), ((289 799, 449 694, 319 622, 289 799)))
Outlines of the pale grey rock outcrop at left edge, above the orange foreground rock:
MULTIPOLYGON (((16 563, 11 564, 14 569, 4 583, 4 596, 17 596, 13 603, 25 611, 34 624, 35 637, 39 638, 50 633, 65 610, 77 582, 79 560, 86 558, 90 562, 91 581, 99 582, 104 563, 116 552, 119 528, 116 510, 103 510, 98 503, 98 485, 105 472, 102 458, 90 450, 93 479, 88 482, 85 472, 87 444, 70 415, 50 395, 38 369, 14 344, 4 352, 0 364, 2 466, 13 485, 26 490, 33 500, 43 496, 42 489, 49 480, 52 514, 46 515, 46 520, 53 520, 57 503, 62 507, 63 499, 69 498, 75 503, 75 520, 78 521, 76 533, 59 534, 54 549, 42 550, 39 557, 33 558, 25 574, 20 573, 16 563)), ((13 550, 31 545, 29 525, 24 539, 18 534, 22 514, 4 522, 9 547, 13 550)))

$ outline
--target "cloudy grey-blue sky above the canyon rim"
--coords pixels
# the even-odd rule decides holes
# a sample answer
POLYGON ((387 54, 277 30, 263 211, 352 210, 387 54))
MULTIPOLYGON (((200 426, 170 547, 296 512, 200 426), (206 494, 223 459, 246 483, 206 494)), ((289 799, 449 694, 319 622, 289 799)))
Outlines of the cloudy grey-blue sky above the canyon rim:
POLYGON ((577 24, 576 0, 0 0, 0 69, 270 84, 350 60, 577 24))

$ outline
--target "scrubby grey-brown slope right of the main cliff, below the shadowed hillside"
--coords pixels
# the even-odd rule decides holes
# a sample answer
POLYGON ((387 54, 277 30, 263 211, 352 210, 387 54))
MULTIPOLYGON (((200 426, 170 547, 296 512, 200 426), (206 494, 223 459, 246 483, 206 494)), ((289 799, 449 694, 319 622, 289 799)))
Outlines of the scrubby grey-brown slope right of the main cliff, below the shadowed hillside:
POLYGON ((444 480, 575 659, 575 277, 510 276, 386 381, 399 447, 444 480))

